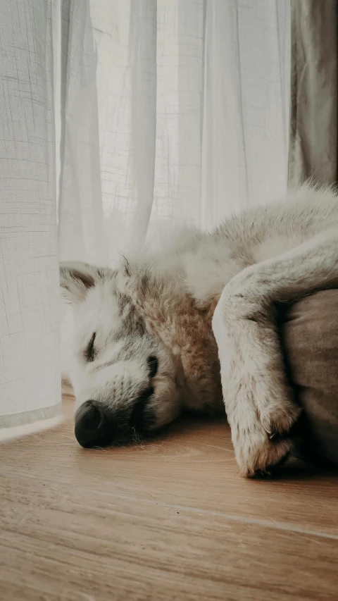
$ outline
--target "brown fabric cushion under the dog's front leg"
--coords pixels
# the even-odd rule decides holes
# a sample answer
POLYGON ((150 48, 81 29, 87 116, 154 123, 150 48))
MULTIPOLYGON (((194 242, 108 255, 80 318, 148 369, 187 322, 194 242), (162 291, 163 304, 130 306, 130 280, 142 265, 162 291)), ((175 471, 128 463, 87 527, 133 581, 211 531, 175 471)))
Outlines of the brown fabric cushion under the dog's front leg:
POLYGON ((284 311, 289 377, 303 407, 304 448, 338 464, 338 290, 305 297, 284 311))

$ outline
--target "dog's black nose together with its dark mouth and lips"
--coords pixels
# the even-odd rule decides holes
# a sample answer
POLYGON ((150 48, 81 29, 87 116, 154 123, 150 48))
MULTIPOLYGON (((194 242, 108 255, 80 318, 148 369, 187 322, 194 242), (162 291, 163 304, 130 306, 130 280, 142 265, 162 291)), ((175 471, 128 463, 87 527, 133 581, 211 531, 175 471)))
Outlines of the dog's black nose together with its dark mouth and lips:
POLYGON ((154 394, 149 386, 136 399, 132 409, 113 409, 96 400, 84 402, 75 414, 75 437, 84 448, 107 447, 137 440, 146 435, 154 423, 154 414, 147 406, 154 394))

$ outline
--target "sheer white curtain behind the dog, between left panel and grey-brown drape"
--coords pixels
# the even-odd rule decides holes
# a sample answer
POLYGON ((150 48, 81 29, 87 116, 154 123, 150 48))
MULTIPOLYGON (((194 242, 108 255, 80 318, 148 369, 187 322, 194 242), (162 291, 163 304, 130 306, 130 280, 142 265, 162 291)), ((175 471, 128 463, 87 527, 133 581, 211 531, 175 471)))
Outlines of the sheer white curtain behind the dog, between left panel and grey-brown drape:
POLYGON ((289 0, 63 0, 63 32, 62 259, 285 190, 289 0))

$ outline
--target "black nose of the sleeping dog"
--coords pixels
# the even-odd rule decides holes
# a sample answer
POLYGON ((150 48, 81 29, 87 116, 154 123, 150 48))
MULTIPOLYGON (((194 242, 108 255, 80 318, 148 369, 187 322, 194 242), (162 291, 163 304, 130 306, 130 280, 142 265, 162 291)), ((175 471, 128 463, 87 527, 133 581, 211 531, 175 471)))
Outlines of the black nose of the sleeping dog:
POLYGON ((104 409, 95 401, 86 401, 75 415, 75 436, 84 448, 110 445, 115 431, 104 409))

